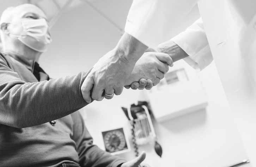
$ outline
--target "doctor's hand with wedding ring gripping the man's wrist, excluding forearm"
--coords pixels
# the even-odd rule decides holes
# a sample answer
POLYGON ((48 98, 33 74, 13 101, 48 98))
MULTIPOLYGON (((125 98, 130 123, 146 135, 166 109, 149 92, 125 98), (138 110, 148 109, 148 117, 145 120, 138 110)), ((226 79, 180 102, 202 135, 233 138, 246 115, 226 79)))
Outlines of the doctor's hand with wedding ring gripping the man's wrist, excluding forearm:
POLYGON ((81 91, 83 98, 87 103, 91 102, 91 98, 100 101, 104 98, 104 94, 111 95, 115 93, 120 95, 123 91, 124 81, 133 70, 134 65, 120 56, 116 56, 115 50, 105 54, 93 66, 92 71, 85 78, 81 91), (90 91, 92 94, 90 96, 90 91))

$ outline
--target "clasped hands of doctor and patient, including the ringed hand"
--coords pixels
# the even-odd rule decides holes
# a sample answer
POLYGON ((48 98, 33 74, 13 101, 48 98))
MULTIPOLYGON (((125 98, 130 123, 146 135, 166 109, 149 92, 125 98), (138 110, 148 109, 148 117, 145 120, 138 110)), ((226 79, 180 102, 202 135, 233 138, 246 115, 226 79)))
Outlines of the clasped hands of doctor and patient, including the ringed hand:
POLYGON ((122 53, 112 50, 104 55, 92 68, 81 86, 83 98, 92 100, 111 99, 120 95, 123 87, 151 89, 168 72, 173 61, 168 54, 145 52, 138 61, 126 59, 122 53))

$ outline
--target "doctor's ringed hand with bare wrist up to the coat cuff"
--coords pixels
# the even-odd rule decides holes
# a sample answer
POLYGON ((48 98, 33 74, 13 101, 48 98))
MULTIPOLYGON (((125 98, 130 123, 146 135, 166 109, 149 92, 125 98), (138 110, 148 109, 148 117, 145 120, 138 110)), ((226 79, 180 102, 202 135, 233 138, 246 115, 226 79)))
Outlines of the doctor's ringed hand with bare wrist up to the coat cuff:
POLYGON ((133 36, 124 33, 115 49, 100 58, 85 78, 81 86, 84 100, 90 103, 92 99, 111 99, 114 93, 120 95, 136 61, 147 48, 133 36))

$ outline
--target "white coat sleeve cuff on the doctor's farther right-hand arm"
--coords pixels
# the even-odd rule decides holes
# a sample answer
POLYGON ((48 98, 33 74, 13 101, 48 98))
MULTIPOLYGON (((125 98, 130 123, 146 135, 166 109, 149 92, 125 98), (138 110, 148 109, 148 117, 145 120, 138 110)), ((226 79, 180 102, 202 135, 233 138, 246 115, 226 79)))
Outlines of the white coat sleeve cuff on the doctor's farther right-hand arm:
POLYGON ((212 62, 213 57, 201 18, 171 40, 189 55, 183 60, 193 68, 202 70, 212 62))

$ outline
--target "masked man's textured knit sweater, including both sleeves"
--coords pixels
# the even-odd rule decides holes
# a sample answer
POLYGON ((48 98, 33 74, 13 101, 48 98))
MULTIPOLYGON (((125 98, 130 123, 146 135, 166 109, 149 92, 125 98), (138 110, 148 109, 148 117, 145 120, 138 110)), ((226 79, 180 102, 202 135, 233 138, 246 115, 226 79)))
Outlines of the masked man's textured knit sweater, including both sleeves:
POLYGON ((116 167, 125 162, 92 144, 78 109, 86 73, 38 82, 20 61, 0 55, 0 166, 116 167), (49 121, 56 120, 54 125, 49 121))

